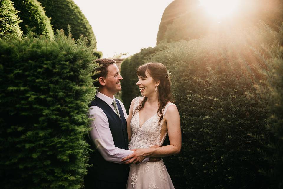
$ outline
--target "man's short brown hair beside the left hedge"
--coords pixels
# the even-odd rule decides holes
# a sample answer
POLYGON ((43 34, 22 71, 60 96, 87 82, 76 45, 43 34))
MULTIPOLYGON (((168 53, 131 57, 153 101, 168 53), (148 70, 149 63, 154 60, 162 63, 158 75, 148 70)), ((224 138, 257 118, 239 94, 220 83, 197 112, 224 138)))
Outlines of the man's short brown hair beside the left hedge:
MULTIPOLYGON (((113 63, 116 63, 115 60, 108 59, 108 58, 99 58, 99 59, 96 59, 95 62, 99 64, 99 67, 97 67, 95 69, 95 71, 98 71, 98 73, 93 75, 92 79, 97 79, 97 78, 100 78, 100 77, 106 78, 107 74, 108 74, 107 67, 110 66, 113 63)), ((99 82, 94 82, 93 85, 95 87, 99 87, 99 82)))

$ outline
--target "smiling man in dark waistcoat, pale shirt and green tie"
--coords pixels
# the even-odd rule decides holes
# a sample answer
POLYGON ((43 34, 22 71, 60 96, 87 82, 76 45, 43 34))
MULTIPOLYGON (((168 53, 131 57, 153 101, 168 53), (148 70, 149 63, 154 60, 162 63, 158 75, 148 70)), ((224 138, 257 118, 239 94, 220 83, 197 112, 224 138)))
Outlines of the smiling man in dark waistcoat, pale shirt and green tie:
MULTIPOLYGON (((94 188, 126 188, 129 175, 129 165, 121 159, 133 153, 128 150, 127 122, 128 115, 123 103, 114 98, 121 90, 120 81, 123 79, 119 69, 112 59, 97 59, 100 71, 95 100, 91 102, 89 116, 91 122, 87 142, 91 152, 88 164, 88 174, 85 176, 85 189, 94 188)), ((147 162, 145 158, 143 162, 147 162)))

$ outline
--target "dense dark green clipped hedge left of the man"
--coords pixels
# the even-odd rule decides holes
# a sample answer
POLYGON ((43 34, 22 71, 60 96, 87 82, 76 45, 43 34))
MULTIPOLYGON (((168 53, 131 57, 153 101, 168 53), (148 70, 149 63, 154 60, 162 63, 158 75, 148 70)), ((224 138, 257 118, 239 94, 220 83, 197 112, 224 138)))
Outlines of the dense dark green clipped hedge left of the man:
POLYGON ((92 50, 63 32, 0 39, 1 188, 80 188, 92 50))

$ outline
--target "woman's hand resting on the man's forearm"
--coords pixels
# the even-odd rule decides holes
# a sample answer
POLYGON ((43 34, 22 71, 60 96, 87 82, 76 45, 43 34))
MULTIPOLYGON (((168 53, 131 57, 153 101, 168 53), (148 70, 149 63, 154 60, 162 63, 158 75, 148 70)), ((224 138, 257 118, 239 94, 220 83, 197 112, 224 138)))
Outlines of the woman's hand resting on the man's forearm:
POLYGON ((137 163, 142 162, 144 158, 149 156, 151 149, 150 148, 137 148, 137 149, 133 149, 132 151, 134 151, 134 153, 122 159, 122 161, 129 159, 129 161, 125 162, 124 164, 131 164, 131 163, 137 164, 137 163))

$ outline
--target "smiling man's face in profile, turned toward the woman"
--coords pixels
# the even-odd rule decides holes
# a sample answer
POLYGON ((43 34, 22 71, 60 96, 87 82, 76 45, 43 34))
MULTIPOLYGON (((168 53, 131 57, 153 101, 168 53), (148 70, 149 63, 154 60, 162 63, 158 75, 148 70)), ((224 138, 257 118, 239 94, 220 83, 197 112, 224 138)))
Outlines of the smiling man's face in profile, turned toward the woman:
POLYGON ((107 67, 107 77, 104 79, 105 87, 109 92, 116 93, 121 91, 120 81, 123 77, 119 74, 119 69, 116 64, 111 64, 107 67))

